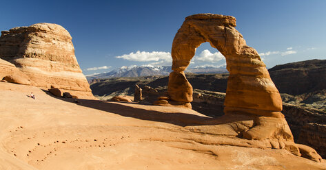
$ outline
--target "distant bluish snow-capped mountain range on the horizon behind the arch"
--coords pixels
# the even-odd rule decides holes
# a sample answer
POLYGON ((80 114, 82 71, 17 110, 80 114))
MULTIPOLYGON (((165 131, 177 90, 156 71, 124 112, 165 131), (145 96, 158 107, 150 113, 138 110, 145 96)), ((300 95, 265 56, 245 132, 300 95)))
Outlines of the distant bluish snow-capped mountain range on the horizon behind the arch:
MULTIPOLYGON (((195 66, 186 69, 187 73, 227 73, 225 65, 221 66, 195 66)), ((93 79, 103 79, 112 77, 143 77, 152 75, 169 75, 172 72, 171 66, 121 66, 108 73, 99 73, 95 75, 86 75, 88 81, 93 79)))

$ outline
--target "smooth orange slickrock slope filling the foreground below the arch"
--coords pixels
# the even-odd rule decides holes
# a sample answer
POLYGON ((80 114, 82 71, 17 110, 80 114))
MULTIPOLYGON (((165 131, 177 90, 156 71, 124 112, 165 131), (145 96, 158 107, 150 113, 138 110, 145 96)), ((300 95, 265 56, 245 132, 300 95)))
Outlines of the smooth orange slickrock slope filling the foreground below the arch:
POLYGON ((0 169, 326 169, 260 149, 194 110, 76 103, 4 82, 0 94, 0 169))

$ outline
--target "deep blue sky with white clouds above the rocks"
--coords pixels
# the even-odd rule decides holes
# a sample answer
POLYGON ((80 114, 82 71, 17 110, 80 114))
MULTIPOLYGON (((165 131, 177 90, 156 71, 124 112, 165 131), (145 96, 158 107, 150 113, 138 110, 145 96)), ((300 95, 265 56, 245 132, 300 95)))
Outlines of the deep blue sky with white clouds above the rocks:
MULTIPOLYGON (((174 35, 186 16, 236 17, 236 29, 261 54, 267 67, 326 59, 326 1, 6 1, 0 30, 57 23, 72 36, 83 73, 121 66, 169 65, 174 35), (138 51, 138 52, 137 52, 138 51)), ((225 62, 204 43, 190 66, 225 62)))

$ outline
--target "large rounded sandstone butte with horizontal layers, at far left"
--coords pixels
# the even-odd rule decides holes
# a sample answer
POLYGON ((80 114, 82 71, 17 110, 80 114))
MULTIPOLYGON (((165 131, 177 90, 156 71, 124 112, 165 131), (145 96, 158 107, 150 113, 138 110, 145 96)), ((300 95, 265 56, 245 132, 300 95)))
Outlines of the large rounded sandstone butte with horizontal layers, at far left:
POLYGON ((0 58, 26 73, 33 86, 55 85, 92 96, 74 56, 72 37, 60 25, 37 23, 1 32, 0 58))

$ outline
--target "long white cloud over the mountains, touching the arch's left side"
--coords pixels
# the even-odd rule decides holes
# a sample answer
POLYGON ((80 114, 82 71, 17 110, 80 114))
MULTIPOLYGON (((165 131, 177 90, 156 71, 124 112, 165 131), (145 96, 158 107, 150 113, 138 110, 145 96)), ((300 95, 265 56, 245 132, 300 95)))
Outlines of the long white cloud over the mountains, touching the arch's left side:
POLYGON ((136 61, 136 62, 150 62, 156 61, 172 61, 171 53, 163 51, 136 51, 136 53, 124 54, 123 56, 116 56, 116 58, 123 58, 125 60, 136 61))

